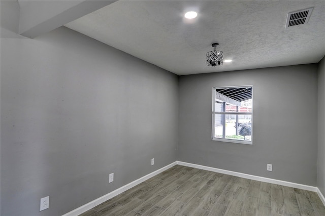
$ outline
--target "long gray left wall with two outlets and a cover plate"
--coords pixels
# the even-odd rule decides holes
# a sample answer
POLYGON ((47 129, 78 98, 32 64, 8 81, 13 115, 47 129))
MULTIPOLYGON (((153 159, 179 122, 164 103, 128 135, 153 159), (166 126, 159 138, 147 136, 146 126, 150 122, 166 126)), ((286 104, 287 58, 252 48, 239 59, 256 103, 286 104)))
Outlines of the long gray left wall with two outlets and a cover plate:
POLYGON ((61 215, 176 161, 175 74, 65 27, 12 29, 1 29, 1 215, 61 215))

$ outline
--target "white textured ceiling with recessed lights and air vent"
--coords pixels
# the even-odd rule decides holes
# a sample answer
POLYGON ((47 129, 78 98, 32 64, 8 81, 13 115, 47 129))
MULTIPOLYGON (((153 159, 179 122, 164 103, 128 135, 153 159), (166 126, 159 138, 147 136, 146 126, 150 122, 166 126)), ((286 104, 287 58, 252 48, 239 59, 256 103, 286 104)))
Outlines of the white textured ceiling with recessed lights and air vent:
POLYGON ((178 75, 317 63, 325 55, 325 1, 117 1, 65 25, 178 75), (286 16, 313 7, 307 24, 286 16), (199 13, 186 20, 184 13, 199 13), (206 53, 231 63, 210 67, 206 53))

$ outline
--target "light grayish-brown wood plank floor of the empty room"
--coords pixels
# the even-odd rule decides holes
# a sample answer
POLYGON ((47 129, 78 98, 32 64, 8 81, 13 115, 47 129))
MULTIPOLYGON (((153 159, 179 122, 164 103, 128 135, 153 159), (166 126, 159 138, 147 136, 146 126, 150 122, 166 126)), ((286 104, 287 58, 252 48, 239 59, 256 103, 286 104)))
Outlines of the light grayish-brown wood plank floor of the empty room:
POLYGON ((175 165, 79 216, 325 215, 315 192, 175 165))

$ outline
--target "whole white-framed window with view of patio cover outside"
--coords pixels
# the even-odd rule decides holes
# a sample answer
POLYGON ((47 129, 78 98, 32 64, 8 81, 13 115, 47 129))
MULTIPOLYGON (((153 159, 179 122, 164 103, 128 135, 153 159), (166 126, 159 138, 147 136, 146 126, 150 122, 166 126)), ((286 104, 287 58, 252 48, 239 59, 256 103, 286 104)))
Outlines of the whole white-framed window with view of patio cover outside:
POLYGON ((213 88, 212 140, 252 144, 253 87, 213 88))

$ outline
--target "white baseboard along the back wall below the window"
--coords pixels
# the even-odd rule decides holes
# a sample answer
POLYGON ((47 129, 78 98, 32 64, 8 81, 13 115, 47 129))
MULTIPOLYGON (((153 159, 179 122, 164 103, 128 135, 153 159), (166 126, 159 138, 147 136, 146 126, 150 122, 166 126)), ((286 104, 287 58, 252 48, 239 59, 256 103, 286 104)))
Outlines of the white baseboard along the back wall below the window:
MULTIPOLYGON (((256 180, 256 181, 261 181, 261 182, 267 182, 267 183, 272 183, 272 184, 277 184, 277 185, 282 185, 282 186, 287 186, 287 187, 293 187, 293 188, 298 188, 298 189, 313 191, 313 192, 319 191, 317 187, 313 187, 313 186, 309 186, 309 185, 302 185, 302 184, 293 183, 293 182, 286 182, 286 181, 282 181, 282 180, 269 179, 269 178, 260 177, 260 176, 253 176, 253 175, 249 175, 249 174, 243 174, 241 172, 235 172, 235 171, 229 171, 229 170, 225 170, 225 169, 213 168, 213 167, 210 167, 210 166, 202 166, 202 165, 193 164, 193 163, 187 163, 187 162, 181 162, 181 161, 176 161, 176 162, 177 162, 178 165, 189 166, 189 167, 193 167, 193 168, 199 168, 199 169, 204 169, 204 170, 208 170, 208 171, 219 172, 221 174, 237 176, 237 177, 241 177, 241 178, 245 178, 245 179, 256 180)), ((320 193, 320 191, 319 191, 319 193, 320 193)))

